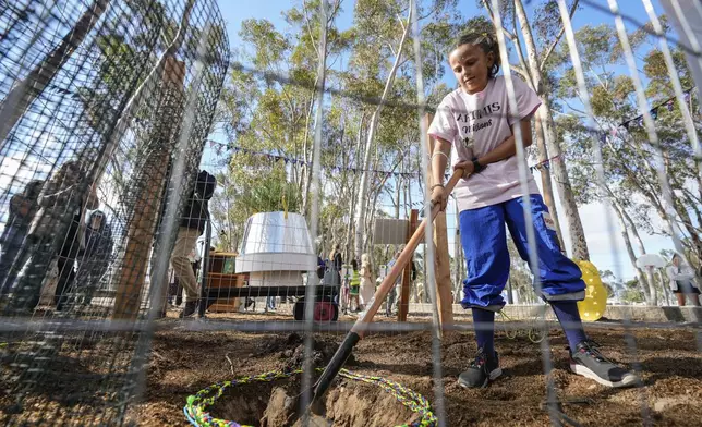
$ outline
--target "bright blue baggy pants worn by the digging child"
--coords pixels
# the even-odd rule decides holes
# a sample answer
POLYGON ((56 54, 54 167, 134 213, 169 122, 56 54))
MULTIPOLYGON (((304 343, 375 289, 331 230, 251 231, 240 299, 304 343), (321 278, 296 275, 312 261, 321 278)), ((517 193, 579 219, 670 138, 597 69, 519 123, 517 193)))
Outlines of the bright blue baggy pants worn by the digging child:
MULTIPOLYGON (((581 279, 580 269, 560 252, 558 236, 544 200, 540 194, 532 194, 530 199, 538 255, 541 296, 546 301, 583 300, 585 283, 581 279)), ((468 278, 463 281, 464 296, 461 301, 464 308, 496 312, 505 306, 500 295, 509 277, 505 223, 519 255, 529 260, 521 197, 460 213, 461 244, 468 265, 468 278)))

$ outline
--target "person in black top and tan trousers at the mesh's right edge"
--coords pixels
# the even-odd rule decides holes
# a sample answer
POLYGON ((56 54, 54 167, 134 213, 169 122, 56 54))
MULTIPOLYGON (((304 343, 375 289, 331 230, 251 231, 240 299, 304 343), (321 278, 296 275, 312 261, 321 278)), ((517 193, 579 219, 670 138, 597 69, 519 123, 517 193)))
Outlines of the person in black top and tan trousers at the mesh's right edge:
POLYGON ((215 194, 216 187, 217 179, 214 175, 207 171, 201 171, 197 174, 195 186, 181 216, 178 237, 171 252, 171 267, 178 277, 178 282, 185 289, 185 307, 180 314, 181 318, 192 316, 197 310, 199 293, 190 254, 209 220, 209 199, 215 194))

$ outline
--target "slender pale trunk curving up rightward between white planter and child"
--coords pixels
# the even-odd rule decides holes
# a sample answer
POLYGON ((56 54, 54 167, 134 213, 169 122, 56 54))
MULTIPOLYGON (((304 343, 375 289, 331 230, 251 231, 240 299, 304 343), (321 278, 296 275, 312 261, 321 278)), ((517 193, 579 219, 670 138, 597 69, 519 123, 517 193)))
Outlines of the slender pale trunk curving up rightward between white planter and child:
POLYGON ((378 127, 378 121, 380 120, 380 111, 383 111, 383 106, 392 88, 392 83, 395 82, 395 74, 400 66, 400 60, 402 59, 402 50, 404 48, 404 42, 410 33, 410 20, 412 17, 412 8, 408 13, 407 25, 404 25, 404 32, 402 33, 402 38, 400 39, 400 46, 397 49, 397 54, 395 56, 395 63, 392 69, 388 74, 388 78, 385 82, 385 88, 383 89, 383 96, 380 97, 380 102, 373 112, 371 117, 371 125, 368 126, 368 134, 365 143, 365 152, 363 159, 363 175, 361 176, 361 188, 359 191, 359 202, 356 203, 356 215, 355 215, 355 256, 361 258, 361 253, 363 252, 363 245, 365 242, 365 209, 366 209, 366 194, 368 191, 368 166, 371 164, 371 148, 373 148, 373 138, 375 137, 375 132, 378 127))

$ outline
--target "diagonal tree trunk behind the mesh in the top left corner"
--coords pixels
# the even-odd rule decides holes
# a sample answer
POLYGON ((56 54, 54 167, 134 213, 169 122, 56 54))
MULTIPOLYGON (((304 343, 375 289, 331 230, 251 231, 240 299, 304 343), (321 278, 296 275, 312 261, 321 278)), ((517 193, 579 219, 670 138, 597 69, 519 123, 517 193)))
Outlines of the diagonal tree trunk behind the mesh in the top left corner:
POLYGON ((14 125, 95 27, 111 0, 95 0, 61 42, 15 85, 0 103, 0 152, 14 125))

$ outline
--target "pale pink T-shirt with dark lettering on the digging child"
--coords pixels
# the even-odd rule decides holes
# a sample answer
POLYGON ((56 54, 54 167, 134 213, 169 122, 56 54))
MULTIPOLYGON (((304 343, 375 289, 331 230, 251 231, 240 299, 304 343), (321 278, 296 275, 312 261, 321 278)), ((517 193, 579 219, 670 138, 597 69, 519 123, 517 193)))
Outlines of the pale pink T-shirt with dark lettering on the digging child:
MULTIPOLYGON (((536 94, 521 80, 512 77, 518 115, 531 115, 541 106, 536 94)), ((459 161, 472 160, 493 150, 512 135, 512 124, 505 77, 487 82, 485 89, 469 95, 458 88, 439 103, 429 126, 431 136, 446 139, 451 150, 451 167, 459 161)), ((538 194, 531 174, 528 175, 529 193, 538 194)), ((487 164, 481 173, 461 179, 453 190, 460 211, 492 206, 521 197, 517 156, 487 164)))

